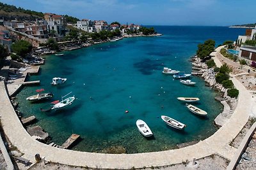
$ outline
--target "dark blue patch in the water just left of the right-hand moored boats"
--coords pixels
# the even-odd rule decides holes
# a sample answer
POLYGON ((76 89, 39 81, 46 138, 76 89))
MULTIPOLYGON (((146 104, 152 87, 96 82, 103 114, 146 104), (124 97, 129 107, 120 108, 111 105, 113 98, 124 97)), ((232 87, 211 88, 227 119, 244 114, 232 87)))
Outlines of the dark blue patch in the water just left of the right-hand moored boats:
POLYGON ((133 66, 145 75, 152 74, 154 70, 162 69, 161 60, 143 59, 134 63, 133 66))

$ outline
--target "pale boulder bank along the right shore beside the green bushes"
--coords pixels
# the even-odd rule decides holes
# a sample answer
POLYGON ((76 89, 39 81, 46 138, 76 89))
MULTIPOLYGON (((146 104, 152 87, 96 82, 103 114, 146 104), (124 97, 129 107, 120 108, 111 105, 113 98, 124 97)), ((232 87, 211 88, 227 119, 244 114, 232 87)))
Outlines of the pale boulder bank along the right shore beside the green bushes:
POLYGON ((221 92, 220 97, 217 97, 217 99, 220 101, 225 100, 229 104, 231 110, 234 110, 237 106, 237 99, 227 96, 228 89, 225 89, 223 85, 216 82, 216 79, 215 79, 216 72, 214 72, 214 69, 213 68, 208 69, 207 65, 204 62, 202 62, 198 57, 195 57, 195 59, 193 59, 192 65, 195 66, 196 68, 200 68, 200 69, 197 69, 196 73, 198 73, 197 75, 201 75, 201 77, 205 81, 205 85, 210 86, 218 90, 219 92, 221 92))

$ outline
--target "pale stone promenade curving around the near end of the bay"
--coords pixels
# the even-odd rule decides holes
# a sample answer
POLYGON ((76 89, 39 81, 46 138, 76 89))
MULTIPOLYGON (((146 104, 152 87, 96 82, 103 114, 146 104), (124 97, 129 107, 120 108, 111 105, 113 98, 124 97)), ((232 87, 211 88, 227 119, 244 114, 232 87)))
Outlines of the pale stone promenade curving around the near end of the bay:
POLYGON ((218 153, 227 159, 232 159, 237 149, 229 144, 232 139, 236 138, 248 121, 253 104, 252 96, 248 90, 236 78, 232 78, 232 81, 236 88, 239 89, 239 103, 227 124, 223 125, 204 141, 177 150, 136 154, 104 154, 78 152, 45 145, 31 138, 20 123, 10 103, 3 81, 0 81, 1 124, 8 139, 14 146, 17 146, 20 152, 24 153, 22 157, 31 160, 31 162, 35 162, 36 153, 51 162, 103 169, 168 166, 179 164, 186 160, 200 159, 214 153, 218 153))

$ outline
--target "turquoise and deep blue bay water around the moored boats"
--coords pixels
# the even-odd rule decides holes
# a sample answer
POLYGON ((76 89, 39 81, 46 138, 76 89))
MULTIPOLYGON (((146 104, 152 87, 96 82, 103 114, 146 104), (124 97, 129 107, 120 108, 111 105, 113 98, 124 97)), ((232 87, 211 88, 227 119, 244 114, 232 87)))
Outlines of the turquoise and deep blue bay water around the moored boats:
POLYGON ((123 146, 127 153, 154 152, 175 147, 178 143, 205 139, 216 128, 214 118, 222 106, 214 101, 216 93, 193 77, 195 87, 161 73, 163 67, 191 72, 188 59, 195 54, 198 43, 215 39, 220 44, 234 40, 243 29, 227 27, 156 26, 160 37, 127 38, 117 42, 94 45, 64 56, 48 55, 38 76, 40 87, 26 87, 17 95, 24 117, 35 115, 52 141, 61 145, 72 133, 82 140, 74 150, 102 152, 110 146, 123 146), (52 77, 67 78, 60 87, 50 85, 52 77), (44 103, 31 104, 26 97, 44 88, 54 94, 52 101, 68 92, 77 97, 65 110, 42 113, 44 103), (130 97, 131 96, 131 97, 130 97), (177 97, 200 97, 199 108, 207 118, 196 117, 177 101, 177 97), (92 97, 92 99, 90 99, 92 97), (125 114, 125 110, 129 113, 125 114), (184 132, 167 127, 161 115, 168 115, 187 125, 184 132), (145 139, 136 128, 136 120, 147 122, 155 139, 145 139))

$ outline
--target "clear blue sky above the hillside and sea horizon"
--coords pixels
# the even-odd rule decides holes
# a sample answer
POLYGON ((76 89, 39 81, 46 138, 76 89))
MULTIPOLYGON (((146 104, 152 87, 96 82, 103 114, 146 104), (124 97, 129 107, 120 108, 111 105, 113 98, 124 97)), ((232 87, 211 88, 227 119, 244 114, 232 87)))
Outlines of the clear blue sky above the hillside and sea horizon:
POLYGON ((109 24, 218 25, 256 22, 255 0, 0 0, 26 10, 109 24))

